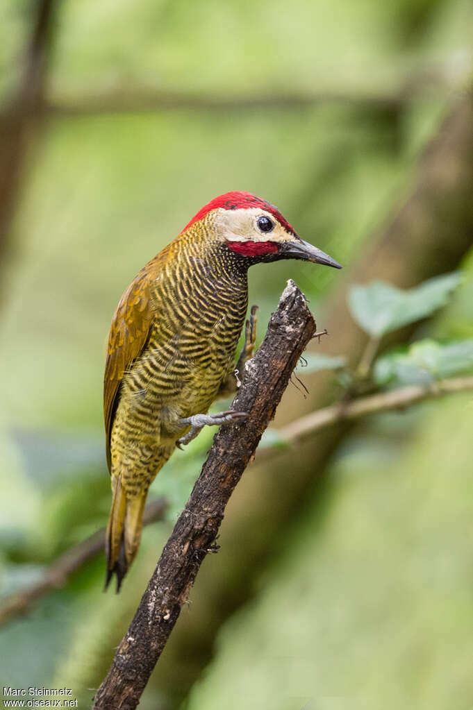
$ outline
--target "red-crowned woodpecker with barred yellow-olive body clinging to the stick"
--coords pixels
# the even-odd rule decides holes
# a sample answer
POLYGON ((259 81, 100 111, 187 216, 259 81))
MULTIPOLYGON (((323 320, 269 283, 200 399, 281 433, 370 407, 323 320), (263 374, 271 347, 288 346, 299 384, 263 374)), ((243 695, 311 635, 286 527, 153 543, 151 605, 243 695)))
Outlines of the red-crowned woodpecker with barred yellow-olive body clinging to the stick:
MULTIPOLYGON (((104 376, 107 464, 112 508, 107 581, 119 591, 141 537, 148 488, 176 445, 205 425, 246 413, 208 415, 236 389, 235 352, 255 263, 300 259, 341 268, 300 239, 281 212, 249 192, 215 197, 158 253, 121 297, 110 327, 104 376)), ((256 312, 246 322, 237 364, 253 354, 256 312)))

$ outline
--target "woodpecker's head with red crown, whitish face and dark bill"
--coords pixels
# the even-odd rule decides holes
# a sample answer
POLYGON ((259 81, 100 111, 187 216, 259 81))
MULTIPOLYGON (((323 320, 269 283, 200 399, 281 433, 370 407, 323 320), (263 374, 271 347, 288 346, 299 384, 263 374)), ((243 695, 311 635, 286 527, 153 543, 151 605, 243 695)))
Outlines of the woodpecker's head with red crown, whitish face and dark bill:
POLYGON ((342 268, 321 249, 300 239, 270 202, 250 192, 226 192, 202 207, 183 232, 201 220, 226 249, 248 263, 300 259, 342 268))

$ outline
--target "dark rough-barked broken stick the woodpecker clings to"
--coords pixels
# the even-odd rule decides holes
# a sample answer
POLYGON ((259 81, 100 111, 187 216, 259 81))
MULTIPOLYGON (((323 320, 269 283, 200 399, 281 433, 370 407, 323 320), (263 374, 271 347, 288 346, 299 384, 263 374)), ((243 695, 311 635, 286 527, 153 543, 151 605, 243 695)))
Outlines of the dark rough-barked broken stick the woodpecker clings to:
POLYGON ((208 552, 216 552, 230 496, 254 456, 315 322, 293 281, 281 296, 258 352, 245 367, 232 407, 248 412, 241 423, 221 427, 189 500, 97 691, 94 708, 136 708, 208 552))

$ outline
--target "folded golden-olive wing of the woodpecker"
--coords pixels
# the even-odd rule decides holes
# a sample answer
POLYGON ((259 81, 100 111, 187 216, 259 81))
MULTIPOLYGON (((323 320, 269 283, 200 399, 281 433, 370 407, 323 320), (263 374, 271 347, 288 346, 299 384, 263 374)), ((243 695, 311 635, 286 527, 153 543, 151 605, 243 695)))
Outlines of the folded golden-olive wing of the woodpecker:
POLYGON ((110 436, 121 381, 146 346, 151 322, 149 274, 143 269, 121 297, 110 327, 104 376, 104 420, 109 471, 112 471, 110 436))

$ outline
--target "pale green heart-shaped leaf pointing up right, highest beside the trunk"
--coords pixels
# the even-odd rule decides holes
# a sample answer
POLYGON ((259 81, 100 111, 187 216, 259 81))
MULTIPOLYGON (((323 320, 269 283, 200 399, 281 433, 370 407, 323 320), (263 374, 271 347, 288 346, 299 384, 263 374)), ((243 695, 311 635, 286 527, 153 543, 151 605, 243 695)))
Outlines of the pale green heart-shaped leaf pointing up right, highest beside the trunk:
POLYGON ((359 326, 371 337, 379 338, 445 305, 460 280, 460 273, 448 273, 408 290, 384 281, 371 281, 364 286, 353 286, 348 304, 359 326))

